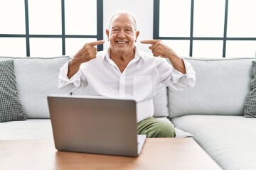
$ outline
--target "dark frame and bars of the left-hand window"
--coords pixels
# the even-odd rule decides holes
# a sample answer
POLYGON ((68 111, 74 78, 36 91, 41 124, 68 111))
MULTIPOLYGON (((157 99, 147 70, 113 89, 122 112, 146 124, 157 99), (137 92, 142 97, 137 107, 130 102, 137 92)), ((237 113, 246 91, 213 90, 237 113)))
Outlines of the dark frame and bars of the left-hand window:
MULTIPOLYGON (((103 0, 97 0, 97 35, 66 35, 65 34, 65 0, 61 1, 61 35, 46 34, 30 34, 28 22, 28 0, 24 0, 25 4, 25 34, 0 34, 0 38, 26 38, 26 56, 30 57, 30 38, 61 38, 62 39, 62 55, 65 55, 65 38, 97 38, 103 39, 103 0)), ((103 45, 98 45, 97 50, 103 50, 103 45)))

